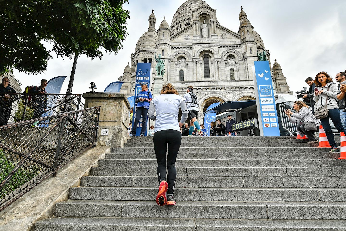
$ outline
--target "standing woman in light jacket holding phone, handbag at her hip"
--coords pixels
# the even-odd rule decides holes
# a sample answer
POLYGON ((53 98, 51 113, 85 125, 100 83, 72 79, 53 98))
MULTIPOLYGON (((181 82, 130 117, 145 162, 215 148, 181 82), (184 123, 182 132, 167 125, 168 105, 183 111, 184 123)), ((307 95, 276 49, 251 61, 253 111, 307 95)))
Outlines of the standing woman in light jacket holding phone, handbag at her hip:
MULTIPOLYGON (((331 146, 331 150, 329 152, 338 152, 338 148, 336 146, 333 133, 331 132, 331 127, 329 124, 329 118, 333 121, 335 128, 339 132, 345 132, 344 127, 341 123, 340 119, 340 111, 338 109, 337 93, 338 87, 335 83, 333 83, 333 79, 330 78, 329 74, 326 72, 319 72, 315 78, 315 96, 313 100, 316 102, 315 104, 315 114, 318 108, 321 108, 327 105, 328 115, 326 118, 320 119, 323 129, 326 132, 327 139, 331 146)), ((316 114, 317 115, 317 114, 316 114)))

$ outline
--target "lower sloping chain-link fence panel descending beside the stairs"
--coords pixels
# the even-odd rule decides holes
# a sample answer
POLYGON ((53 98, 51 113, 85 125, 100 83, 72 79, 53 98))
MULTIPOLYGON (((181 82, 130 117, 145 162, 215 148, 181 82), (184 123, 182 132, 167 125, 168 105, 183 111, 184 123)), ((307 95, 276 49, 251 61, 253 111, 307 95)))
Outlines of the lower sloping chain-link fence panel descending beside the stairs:
POLYGON ((96 145, 100 107, 0 127, 0 211, 96 145))

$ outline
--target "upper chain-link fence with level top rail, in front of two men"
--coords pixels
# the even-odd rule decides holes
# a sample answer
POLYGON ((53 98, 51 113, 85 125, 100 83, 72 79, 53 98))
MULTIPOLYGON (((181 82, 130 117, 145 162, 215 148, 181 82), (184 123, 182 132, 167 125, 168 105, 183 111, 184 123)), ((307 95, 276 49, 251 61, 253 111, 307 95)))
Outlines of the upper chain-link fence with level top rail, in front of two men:
POLYGON ((84 108, 81 94, 0 93, 0 126, 84 108))

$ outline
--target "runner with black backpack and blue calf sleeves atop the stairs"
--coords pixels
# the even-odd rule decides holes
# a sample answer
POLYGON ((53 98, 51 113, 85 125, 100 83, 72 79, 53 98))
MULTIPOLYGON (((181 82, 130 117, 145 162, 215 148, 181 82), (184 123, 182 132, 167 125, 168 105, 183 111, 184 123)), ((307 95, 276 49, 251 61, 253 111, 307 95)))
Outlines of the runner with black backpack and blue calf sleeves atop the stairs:
POLYGON ((189 120, 190 120, 190 130, 189 130, 189 136, 192 135, 194 131, 193 125, 197 128, 197 136, 202 136, 203 132, 201 131, 201 126, 199 125, 197 121, 198 116, 198 99, 196 94, 193 93, 193 87, 189 86, 187 87, 188 90, 186 91, 186 94, 184 95, 184 99, 186 99, 186 106, 189 110, 189 120))

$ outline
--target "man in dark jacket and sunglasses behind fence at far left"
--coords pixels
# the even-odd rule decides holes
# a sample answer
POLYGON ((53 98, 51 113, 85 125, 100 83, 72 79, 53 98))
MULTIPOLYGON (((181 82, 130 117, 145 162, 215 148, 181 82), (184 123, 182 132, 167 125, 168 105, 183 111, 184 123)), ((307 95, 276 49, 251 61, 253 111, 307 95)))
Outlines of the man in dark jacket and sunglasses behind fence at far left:
POLYGON ((16 90, 10 87, 10 80, 3 78, 0 85, 0 126, 7 125, 12 111, 12 102, 17 99, 14 95, 6 93, 16 93, 16 90))

